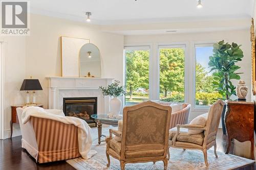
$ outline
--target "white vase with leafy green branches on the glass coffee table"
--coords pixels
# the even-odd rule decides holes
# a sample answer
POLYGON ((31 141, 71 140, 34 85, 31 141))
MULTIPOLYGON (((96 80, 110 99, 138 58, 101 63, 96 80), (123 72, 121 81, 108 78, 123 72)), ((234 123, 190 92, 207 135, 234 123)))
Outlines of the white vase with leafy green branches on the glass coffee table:
POLYGON ((108 85, 107 87, 99 87, 102 90, 103 96, 110 96, 110 114, 118 115, 121 110, 121 100, 118 98, 125 94, 124 86, 120 85, 120 81, 115 80, 114 83, 108 85))

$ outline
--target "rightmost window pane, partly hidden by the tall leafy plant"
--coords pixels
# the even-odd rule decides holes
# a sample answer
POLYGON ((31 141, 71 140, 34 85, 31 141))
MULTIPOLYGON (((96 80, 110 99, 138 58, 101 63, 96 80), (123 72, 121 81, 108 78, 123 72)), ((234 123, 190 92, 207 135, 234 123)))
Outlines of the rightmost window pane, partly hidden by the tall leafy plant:
POLYGON ((208 68, 209 56, 212 56, 212 44, 195 45, 196 52, 196 106, 208 106, 221 99, 218 91, 212 87, 214 77, 208 68))

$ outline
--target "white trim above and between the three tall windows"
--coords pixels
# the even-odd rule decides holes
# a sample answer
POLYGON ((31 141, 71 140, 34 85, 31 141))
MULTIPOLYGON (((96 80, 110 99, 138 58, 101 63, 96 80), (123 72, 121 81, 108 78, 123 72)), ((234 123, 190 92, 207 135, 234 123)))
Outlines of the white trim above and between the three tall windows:
MULTIPOLYGON (((179 47, 185 45, 185 75, 184 75, 184 85, 185 85, 185 103, 191 104, 191 111, 207 112, 209 106, 196 106, 196 45, 212 45, 218 40, 209 41, 181 41, 181 42, 154 42, 154 43, 125 43, 123 51, 123 82, 125 85, 126 79, 126 63, 125 63, 125 48, 136 48, 139 49, 143 46, 150 46, 150 64, 149 64, 149 99, 150 100, 160 100, 160 70, 159 61, 160 53, 159 48, 161 46, 171 46, 179 47), (160 47, 159 47, 160 46, 160 47), (157 80, 157 81, 154 81, 157 80)), ((123 100, 125 96, 123 96, 123 100)), ((125 106, 123 102, 123 106, 125 106)))

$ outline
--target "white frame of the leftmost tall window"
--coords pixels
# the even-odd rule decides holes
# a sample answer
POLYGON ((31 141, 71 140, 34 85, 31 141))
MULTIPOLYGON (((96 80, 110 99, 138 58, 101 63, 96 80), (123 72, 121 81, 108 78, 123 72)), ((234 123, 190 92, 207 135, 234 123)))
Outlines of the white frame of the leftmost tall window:
MULTIPOLYGON (((139 43, 139 44, 124 44, 123 46, 123 85, 125 86, 126 85, 126 56, 125 56, 125 50, 148 50, 149 53, 150 53, 150 56, 149 56, 149 67, 148 67, 148 99, 149 100, 153 100, 152 99, 152 94, 151 94, 151 91, 152 90, 152 81, 151 80, 154 80, 152 79, 152 59, 153 59, 153 54, 152 54, 152 51, 153 51, 153 45, 151 43, 139 43)), ((125 91, 126 91, 126 87, 125 87, 125 91)), ((131 105, 126 105, 126 102, 125 102, 125 95, 123 95, 122 97, 123 99, 123 107, 124 106, 131 106, 131 105)))

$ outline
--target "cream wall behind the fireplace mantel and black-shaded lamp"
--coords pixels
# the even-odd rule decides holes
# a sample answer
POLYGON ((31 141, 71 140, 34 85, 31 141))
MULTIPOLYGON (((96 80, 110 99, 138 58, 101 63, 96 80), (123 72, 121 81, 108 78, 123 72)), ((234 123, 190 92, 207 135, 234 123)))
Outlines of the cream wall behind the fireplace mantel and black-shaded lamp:
MULTIPOLYGON (((122 35, 103 33, 99 26, 84 22, 35 14, 31 14, 30 30, 31 34, 28 37, 6 38, 8 49, 5 56, 7 88, 5 131, 7 133, 10 132, 10 106, 25 103, 25 92, 19 91, 23 79, 30 78, 30 76, 39 79, 43 90, 37 91, 36 102, 48 108, 48 80, 46 77, 61 76, 60 36, 62 35, 90 38, 91 43, 98 46, 101 53, 102 77, 123 81, 122 35), (18 97, 18 93, 22 94, 23 99, 18 97), (17 102, 15 102, 16 98, 19 99, 17 102)), ((19 134, 14 130, 13 136, 19 134)))

